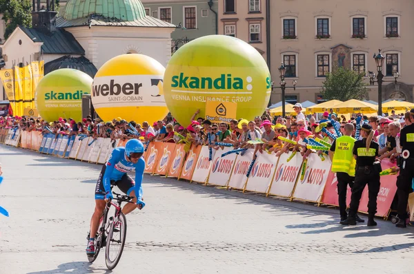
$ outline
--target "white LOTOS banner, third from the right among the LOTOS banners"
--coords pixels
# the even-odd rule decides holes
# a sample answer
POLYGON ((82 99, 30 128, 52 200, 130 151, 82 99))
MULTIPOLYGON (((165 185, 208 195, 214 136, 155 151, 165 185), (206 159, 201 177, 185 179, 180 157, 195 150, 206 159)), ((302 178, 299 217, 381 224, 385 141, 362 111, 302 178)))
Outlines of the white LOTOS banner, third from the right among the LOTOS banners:
POLYGON ((267 193, 270 182, 273 180, 278 158, 275 154, 265 151, 257 152, 257 159, 247 181, 246 190, 267 193))

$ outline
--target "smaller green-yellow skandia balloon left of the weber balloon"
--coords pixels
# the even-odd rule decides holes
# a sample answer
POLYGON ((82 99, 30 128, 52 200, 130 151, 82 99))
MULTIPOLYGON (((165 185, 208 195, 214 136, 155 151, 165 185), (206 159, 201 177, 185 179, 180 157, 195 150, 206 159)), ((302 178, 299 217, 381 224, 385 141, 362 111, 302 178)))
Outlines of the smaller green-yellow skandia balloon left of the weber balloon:
POLYGON ((36 88, 37 111, 44 120, 82 118, 82 94, 90 94, 93 79, 80 70, 60 69, 44 76, 36 88))

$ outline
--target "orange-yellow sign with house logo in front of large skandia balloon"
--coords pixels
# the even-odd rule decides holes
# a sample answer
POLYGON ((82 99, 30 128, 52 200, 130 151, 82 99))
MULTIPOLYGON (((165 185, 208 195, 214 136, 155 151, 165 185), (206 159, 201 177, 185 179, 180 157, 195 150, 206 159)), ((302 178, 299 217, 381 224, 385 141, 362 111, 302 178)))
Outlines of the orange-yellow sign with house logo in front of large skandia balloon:
POLYGON ((230 123, 236 118, 237 103, 215 101, 217 98, 207 98, 206 119, 211 123, 230 123))

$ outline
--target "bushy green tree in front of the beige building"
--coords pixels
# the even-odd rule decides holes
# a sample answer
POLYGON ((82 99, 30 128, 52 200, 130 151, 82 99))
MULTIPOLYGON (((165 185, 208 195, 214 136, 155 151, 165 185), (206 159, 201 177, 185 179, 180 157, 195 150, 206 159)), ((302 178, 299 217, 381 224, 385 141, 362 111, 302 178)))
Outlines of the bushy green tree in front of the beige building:
POLYGON ((326 100, 348 101, 364 99, 368 89, 364 83, 365 74, 359 74, 345 67, 338 67, 326 75, 322 96, 326 100))

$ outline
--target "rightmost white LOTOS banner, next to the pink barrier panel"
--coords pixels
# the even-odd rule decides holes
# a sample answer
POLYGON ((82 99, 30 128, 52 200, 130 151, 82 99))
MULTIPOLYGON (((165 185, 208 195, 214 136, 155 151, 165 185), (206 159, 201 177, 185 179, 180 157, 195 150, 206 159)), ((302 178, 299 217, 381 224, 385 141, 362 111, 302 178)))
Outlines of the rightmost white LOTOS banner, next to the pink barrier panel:
POLYGON ((308 156, 307 163, 305 176, 303 180, 299 176, 293 198, 319 202, 332 162, 328 158, 322 161, 317 154, 311 154, 308 156))

